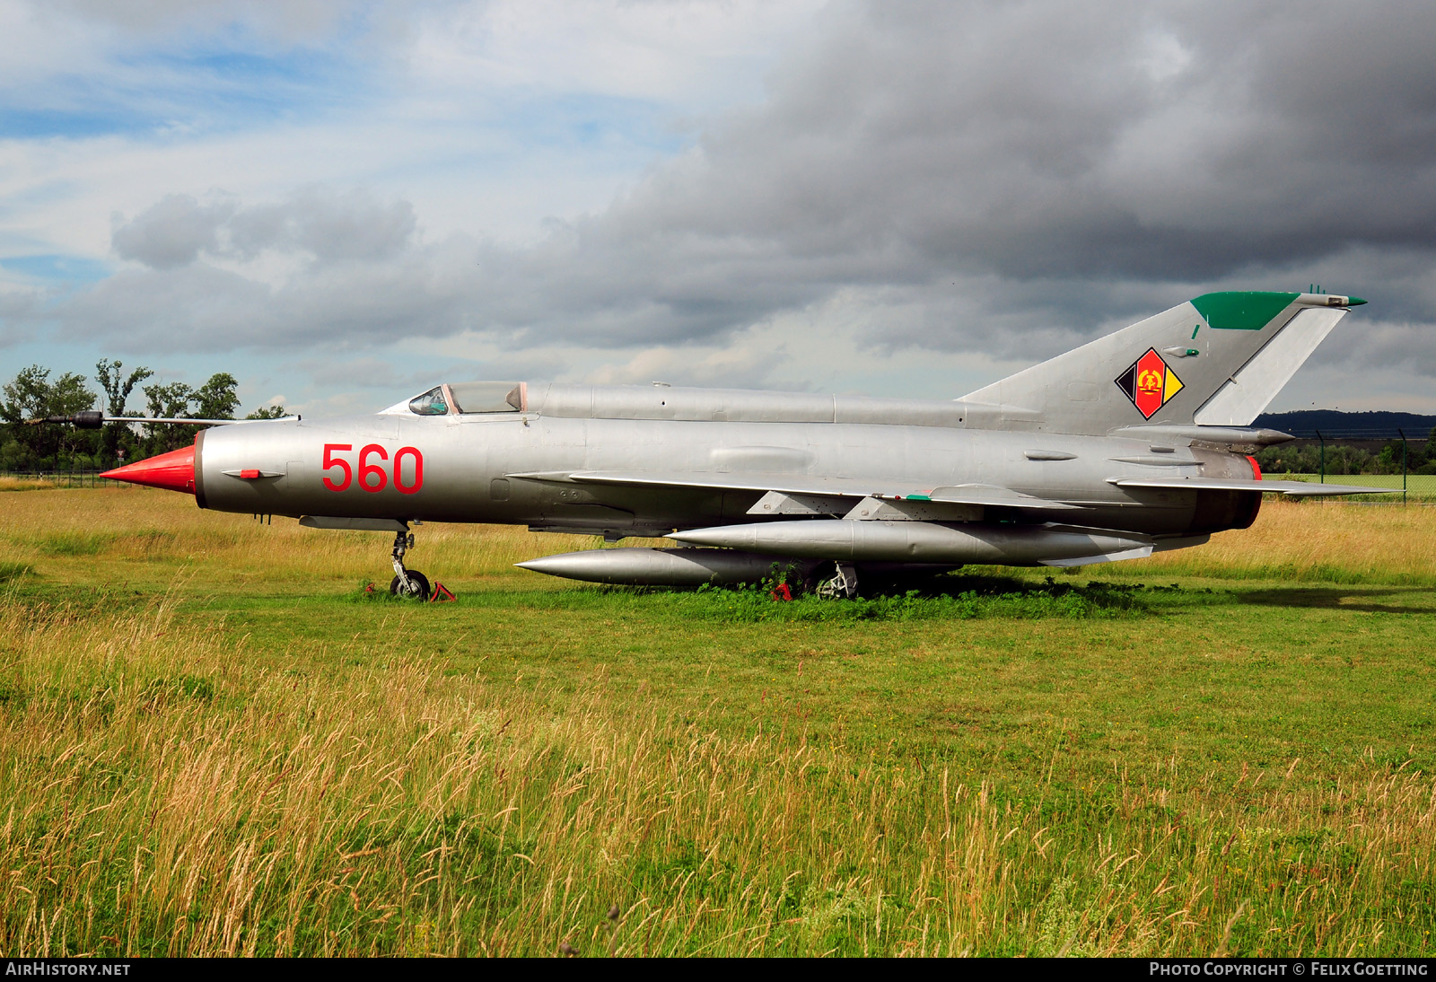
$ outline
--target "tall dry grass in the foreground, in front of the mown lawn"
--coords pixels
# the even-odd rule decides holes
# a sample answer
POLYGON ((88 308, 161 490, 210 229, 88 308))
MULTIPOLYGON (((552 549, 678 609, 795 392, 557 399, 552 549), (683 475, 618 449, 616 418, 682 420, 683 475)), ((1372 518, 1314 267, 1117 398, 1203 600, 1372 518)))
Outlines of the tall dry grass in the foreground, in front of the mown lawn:
POLYGON ((286 668, 184 586, 0 607, 0 955, 1430 950, 1436 785, 1400 765, 1061 791, 1054 747, 1014 800, 370 640, 286 668))

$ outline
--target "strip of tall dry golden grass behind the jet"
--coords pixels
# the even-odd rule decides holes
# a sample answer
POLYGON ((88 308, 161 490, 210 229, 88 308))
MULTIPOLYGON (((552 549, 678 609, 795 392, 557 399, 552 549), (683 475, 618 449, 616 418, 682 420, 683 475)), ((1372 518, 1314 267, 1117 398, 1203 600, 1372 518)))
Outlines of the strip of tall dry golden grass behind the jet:
MULTIPOLYGON (((0 528, 7 554, 50 576, 134 579, 154 564, 161 583, 175 566, 205 580, 386 580, 391 537, 302 528, 293 518, 200 511, 188 495, 144 488, 10 495, 0 528)), ((501 525, 421 525, 409 563, 431 576, 510 579, 528 589, 567 589, 514 570, 536 556, 593 548, 600 540, 501 525)), ((625 546, 671 544, 628 540, 625 546)), ((1100 579, 1163 574, 1436 584, 1436 508, 1268 501, 1252 528, 1147 560, 1090 567, 1100 579)))

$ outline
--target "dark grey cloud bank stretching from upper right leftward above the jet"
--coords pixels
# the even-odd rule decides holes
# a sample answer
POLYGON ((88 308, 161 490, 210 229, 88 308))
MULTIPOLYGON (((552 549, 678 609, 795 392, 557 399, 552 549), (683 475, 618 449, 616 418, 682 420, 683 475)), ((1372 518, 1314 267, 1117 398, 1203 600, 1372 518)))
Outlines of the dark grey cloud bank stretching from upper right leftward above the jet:
POLYGON ((192 347, 633 346, 849 290, 873 346, 1035 355, 1189 290, 1320 270, 1422 323, 1432 50, 1423 3, 840 4, 761 106, 538 246, 424 243, 405 202, 359 192, 171 195, 115 233, 146 268, 63 310, 192 347), (214 266, 266 250, 306 264, 284 286, 214 266))

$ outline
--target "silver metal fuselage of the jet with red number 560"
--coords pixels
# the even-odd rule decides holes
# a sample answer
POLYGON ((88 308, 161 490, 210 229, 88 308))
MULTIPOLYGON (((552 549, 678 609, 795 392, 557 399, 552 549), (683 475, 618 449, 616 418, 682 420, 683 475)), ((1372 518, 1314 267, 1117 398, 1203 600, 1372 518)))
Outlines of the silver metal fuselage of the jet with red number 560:
MULTIPOLYGON (((638 395, 649 401, 646 392, 638 395)), ((803 415, 811 402, 793 399, 796 409, 768 415, 803 415)), ((864 401, 852 401, 857 409, 843 413, 827 399, 829 421, 731 418, 741 412, 655 419, 642 418, 646 402, 613 409, 593 396, 579 408, 550 399, 554 412, 567 415, 385 412, 223 426, 200 435, 197 500, 202 508, 234 513, 518 524, 620 538, 761 521, 748 511, 764 491, 595 485, 566 481, 566 474, 744 474, 773 475, 775 484, 781 477, 824 477, 995 485, 1077 507, 989 507, 981 521, 1180 537, 1246 527, 1261 497, 1111 482, 1153 474, 1252 477, 1245 457, 1222 449, 985 429, 952 402, 867 401, 864 409, 864 401), (899 422, 831 421, 844 415, 899 422)), ((666 409, 666 402, 655 403, 652 412, 666 409)))

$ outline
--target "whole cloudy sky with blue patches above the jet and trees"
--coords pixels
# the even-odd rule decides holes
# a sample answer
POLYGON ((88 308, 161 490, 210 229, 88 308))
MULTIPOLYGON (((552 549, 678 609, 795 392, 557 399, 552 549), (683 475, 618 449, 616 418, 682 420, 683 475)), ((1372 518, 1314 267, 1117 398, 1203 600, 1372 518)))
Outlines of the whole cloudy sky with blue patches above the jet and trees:
POLYGON ((954 398, 1199 293, 1436 412, 1430 3, 0 0, 0 375, 954 398))

